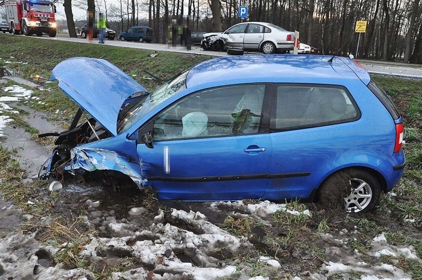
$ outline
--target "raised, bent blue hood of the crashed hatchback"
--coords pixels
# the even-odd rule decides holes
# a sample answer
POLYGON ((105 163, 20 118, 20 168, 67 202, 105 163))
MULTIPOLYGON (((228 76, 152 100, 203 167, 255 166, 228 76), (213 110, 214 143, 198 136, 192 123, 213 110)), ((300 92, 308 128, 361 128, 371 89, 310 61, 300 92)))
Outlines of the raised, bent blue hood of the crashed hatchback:
POLYGON ((104 59, 73 57, 57 64, 51 80, 82 109, 117 135, 121 105, 133 93, 147 92, 126 73, 104 59))

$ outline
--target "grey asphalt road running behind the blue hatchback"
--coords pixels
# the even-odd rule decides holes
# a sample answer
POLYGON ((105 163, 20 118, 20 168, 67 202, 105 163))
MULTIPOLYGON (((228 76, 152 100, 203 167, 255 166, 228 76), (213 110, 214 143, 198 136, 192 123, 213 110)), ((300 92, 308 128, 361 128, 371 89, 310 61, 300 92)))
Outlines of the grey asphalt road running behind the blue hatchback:
MULTIPOLYGON (((10 36, 16 36, 11 35, 10 36)), ((19 35, 23 36, 23 35, 19 35)), ((55 41, 68 41, 68 42, 78 42, 85 44, 97 44, 98 39, 89 41, 82 38, 69 38, 68 34, 57 34, 56 37, 50 38, 46 35, 42 37, 32 36, 33 38, 38 38, 40 40, 55 40, 55 41)), ((203 50, 199 45, 195 45, 192 49, 187 50, 186 47, 172 47, 165 44, 153 44, 153 43, 138 43, 138 42, 124 42, 124 41, 110 41, 105 40, 106 46, 115 46, 115 47, 132 47, 132 48, 141 48, 141 49, 150 49, 154 51, 172 51, 172 52, 183 52, 183 53, 192 53, 199 55, 211 55, 211 56, 227 56, 229 54, 222 51, 209 51, 203 50)), ((258 53, 258 52, 245 52, 245 53, 258 53)), ((387 75, 387 76, 398 76, 405 78, 413 79, 422 79, 422 65, 420 64, 405 64, 405 63, 396 63, 390 61, 373 61, 373 60, 362 60, 358 61, 368 70, 371 74, 377 75, 387 75)))

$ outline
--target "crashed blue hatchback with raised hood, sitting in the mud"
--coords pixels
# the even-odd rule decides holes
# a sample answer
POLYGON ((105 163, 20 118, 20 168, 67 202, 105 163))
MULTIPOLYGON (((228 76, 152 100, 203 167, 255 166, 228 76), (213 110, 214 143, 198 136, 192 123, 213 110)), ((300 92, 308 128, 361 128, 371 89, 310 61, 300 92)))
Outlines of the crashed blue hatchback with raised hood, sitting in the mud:
POLYGON ((52 80, 80 109, 43 178, 104 171, 159 199, 300 198, 360 212, 403 175, 402 118, 349 58, 220 57, 150 93, 106 60, 75 57, 52 80), (77 125, 82 111, 92 118, 77 125))

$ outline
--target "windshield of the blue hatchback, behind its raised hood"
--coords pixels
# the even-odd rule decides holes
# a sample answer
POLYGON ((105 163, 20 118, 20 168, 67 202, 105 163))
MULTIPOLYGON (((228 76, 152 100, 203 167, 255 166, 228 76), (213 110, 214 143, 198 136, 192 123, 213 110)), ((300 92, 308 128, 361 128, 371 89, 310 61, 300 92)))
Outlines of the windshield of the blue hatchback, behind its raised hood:
POLYGON ((149 111, 157 107, 159 104, 173 96, 174 94, 186 89, 186 76, 189 70, 183 72, 176 78, 159 86, 153 93, 142 95, 136 98, 135 104, 130 105, 131 108, 119 119, 117 124, 118 133, 122 133, 130 128, 134 123, 145 116, 149 111))

